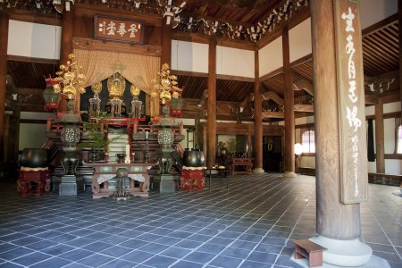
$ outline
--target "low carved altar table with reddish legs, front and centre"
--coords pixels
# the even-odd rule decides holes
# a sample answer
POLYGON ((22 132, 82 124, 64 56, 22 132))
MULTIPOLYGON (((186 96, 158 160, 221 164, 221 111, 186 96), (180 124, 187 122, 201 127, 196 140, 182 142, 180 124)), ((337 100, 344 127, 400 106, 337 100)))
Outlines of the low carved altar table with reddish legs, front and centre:
POLYGON ((149 174, 148 171, 156 163, 86 163, 94 168, 92 176, 92 197, 94 199, 101 197, 111 197, 117 193, 117 188, 113 186, 115 183, 116 172, 118 169, 127 169, 127 185, 125 193, 130 196, 148 197, 149 191, 149 174), (135 181, 138 182, 136 187, 135 181), (101 188, 103 184, 103 188, 101 188))

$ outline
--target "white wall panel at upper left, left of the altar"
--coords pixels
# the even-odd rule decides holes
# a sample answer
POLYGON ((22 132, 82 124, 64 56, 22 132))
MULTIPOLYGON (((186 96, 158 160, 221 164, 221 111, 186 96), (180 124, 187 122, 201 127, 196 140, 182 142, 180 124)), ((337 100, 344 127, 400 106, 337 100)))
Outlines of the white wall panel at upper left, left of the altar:
POLYGON ((10 20, 7 54, 58 60, 61 36, 59 26, 10 20))

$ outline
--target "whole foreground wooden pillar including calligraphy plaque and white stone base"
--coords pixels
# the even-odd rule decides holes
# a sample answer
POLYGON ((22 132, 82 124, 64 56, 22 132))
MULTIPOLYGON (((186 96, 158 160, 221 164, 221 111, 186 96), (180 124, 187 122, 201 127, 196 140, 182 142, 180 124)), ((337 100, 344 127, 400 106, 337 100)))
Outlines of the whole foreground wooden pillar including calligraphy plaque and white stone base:
POLYGON ((350 19, 354 14, 356 18, 360 16, 358 2, 311 0, 310 4, 314 59, 317 207, 315 230, 319 234, 318 237, 310 238, 310 240, 328 248, 322 254, 324 263, 338 266, 359 266, 370 260, 373 250, 359 240, 361 234, 360 205, 357 199, 349 199, 349 197, 362 197, 364 200, 364 196, 366 197, 364 186, 367 183, 363 62, 361 61, 362 44, 361 38, 359 38, 361 29, 357 20, 350 19), (334 4, 339 7, 339 13, 335 13, 334 4), (345 19, 341 17, 341 14, 345 14, 345 19), (338 30, 336 30, 335 21, 339 23, 338 30), (353 32, 348 28, 350 24, 347 23, 353 25, 353 32), (335 34, 339 37, 335 38, 335 34), (343 47, 344 44, 348 44, 347 37, 352 35, 356 53, 350 56, 343 47), (339 42, 342 45, 337 49, 339 42), (348 71, 350 59, 356 67, 354 69, 356 76, 351 76, 348 71), (345 72, 346 75, 344 75, 345 72), (337 74, 344 76, 337 80, 337 74), (348 109, 352 102, 348 95, 349 88, 345 87, 350 83, 350 79, 356 81, 354 91, 356 103, 352 104, 352 107, 358 105, 356 108, 358 113, 354 115, 356 117, 353 117, 355 121, 352 121, 352 115, 345 116, 345 113, 350 112, 348 109), (350 134, 351 132, 353 134, 350 134), (355 137, 356 144, 349 145, 354 142, 355 137), (353 158, 355 155, 350 152, 356 152, 355 147, 357 156, 353 158), (356 159, 356 162, 353 159, 356 159), (352 260, 353 264, 351 264, 352 260))

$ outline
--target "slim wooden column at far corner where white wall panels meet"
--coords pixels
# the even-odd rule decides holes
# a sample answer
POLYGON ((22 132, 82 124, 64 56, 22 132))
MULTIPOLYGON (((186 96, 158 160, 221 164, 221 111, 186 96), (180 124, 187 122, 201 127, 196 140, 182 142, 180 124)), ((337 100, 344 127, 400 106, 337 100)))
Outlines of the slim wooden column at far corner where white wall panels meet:
POLYGON ((261 96, 260 67, 258 50, 254 53, 254 170, 264 173, 263 170, 263 100, 261 96))

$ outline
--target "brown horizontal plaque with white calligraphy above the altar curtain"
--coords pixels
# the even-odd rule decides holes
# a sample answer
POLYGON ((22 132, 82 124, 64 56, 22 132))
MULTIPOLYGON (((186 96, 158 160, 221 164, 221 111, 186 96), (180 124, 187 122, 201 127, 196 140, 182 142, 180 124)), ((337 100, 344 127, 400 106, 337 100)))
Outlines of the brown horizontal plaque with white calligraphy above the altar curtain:
POLYGON ((96 39, 142 44, 144 21, 95 15, 96 39))

